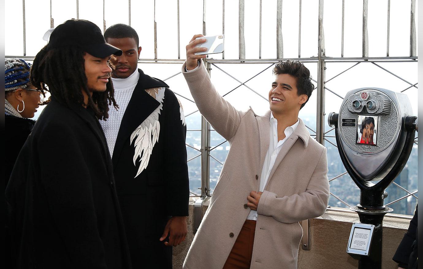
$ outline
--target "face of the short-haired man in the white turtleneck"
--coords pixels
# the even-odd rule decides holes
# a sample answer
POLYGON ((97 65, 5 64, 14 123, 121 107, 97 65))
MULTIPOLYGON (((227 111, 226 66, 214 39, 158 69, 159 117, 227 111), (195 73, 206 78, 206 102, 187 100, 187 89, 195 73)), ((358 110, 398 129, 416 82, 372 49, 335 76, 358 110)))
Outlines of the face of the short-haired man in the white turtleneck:
POLYGON ((121 56, 113 56, 113 78, 128 78, 138 68, 138 56, 141 47, 137 47, 137 41, 134 38, 107 38, 107 43, 121 49, 121 56))

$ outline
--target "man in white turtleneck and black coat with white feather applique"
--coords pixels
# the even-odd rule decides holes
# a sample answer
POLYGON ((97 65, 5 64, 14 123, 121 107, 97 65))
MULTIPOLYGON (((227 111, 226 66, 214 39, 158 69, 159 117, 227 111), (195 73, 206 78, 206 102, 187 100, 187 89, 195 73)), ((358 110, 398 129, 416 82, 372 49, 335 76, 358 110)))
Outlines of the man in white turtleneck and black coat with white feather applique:
POLYGON ((119 109, 102 121, 133 268, 172 268, 172 246, 187 234, 186 124, 169 86, 137 69, 138 35, 125 24, 104 32, 123 54, 112 59, 119 109))

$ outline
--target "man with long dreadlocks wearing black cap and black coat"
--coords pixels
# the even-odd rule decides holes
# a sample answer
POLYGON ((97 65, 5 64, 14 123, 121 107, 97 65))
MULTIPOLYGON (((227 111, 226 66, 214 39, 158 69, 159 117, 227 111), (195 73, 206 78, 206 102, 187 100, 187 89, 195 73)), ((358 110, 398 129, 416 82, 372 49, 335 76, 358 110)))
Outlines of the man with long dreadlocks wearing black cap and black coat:
POLYGON ((112 161, 99 119, 118 107, 107 44, 68 20, 36 55, 30 82, 51 101, 22 148, 5 198, 16 268, 130 268, 112 161))

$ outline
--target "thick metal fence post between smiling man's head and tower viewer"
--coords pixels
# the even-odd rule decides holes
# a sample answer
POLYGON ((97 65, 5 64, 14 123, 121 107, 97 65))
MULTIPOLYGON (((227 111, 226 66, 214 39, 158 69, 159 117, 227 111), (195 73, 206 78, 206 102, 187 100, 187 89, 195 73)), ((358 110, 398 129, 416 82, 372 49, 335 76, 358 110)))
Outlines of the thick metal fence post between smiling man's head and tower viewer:
POLYGON ((319 0, 319 61, 317 63, 317 111, 316 111, 316 140, 324 145, 324 81, 325 81, 325 62, 322 57, 324 50, 324 32, 323 32, 323 2, 319 0))

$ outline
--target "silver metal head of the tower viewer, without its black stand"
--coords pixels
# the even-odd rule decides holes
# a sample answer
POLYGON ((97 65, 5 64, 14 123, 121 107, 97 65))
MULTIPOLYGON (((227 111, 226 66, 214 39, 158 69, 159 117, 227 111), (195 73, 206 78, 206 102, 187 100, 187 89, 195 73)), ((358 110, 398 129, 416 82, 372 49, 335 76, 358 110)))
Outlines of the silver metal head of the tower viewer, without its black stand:
POLYGON ((404 151, 407 132, 417 130, 417 117, 411 115, 407 95, 361 88, 346 94, 328 124, 335 127, 339 152, 354 174, 361 180, 382 180, 404 151))

